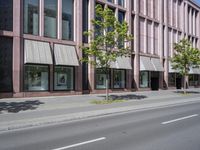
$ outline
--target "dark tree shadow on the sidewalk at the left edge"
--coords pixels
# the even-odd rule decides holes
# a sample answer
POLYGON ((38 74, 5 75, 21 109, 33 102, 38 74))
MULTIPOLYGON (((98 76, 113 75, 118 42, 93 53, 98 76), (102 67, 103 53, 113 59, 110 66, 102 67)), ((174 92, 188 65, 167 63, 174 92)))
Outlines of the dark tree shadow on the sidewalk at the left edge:
POLYGON ((20 111, 34 110, 37 109, 39 105, 44 104, 39 100, 34 101, 24 101, 24 102, 0 102, 0 113, 6 111, 9 113, 18 113, 20 111))

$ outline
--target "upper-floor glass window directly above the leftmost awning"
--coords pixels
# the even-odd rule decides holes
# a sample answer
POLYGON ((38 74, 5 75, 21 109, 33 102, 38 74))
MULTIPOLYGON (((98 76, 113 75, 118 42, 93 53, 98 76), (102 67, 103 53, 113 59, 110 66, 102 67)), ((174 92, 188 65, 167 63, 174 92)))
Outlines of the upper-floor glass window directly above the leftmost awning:
POLYGON ((39 0, 24 0, 24 33, 39 33, 39 0))

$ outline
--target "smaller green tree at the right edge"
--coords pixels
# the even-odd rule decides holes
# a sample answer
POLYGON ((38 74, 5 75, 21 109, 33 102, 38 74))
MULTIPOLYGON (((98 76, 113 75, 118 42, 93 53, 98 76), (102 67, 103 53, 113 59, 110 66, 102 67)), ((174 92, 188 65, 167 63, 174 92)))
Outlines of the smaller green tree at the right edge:
POLYGON ((174 44, 174 56, 171 59, 172 68, 177 70, 184 77, 184 93, 186 93, 187 77, 190 69, 199 67, 200 50, 193 48, 187 39, 182 39, 174 44))

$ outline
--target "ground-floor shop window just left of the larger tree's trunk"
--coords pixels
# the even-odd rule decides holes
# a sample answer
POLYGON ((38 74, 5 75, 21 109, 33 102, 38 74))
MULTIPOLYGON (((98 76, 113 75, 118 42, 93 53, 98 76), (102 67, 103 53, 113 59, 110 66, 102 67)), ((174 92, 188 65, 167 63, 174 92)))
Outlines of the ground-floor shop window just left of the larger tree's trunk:
POLYGON ((96 89, 106 89, 106 73, 102 69, 96 69, 96 89))

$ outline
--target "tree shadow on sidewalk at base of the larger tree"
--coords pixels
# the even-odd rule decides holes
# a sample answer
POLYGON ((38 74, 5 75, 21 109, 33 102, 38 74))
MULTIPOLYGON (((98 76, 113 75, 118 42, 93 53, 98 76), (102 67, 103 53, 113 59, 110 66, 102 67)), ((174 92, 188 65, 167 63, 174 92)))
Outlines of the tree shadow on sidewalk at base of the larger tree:
MULTIPOLYGON (((106 96, 100 96, 106 98, 106 96)), ((135 94, 128 94, 128 95, 109 95, 109 98, 112 100, 140 100, 147 98, 145 95, 135 95, 135 94)))

